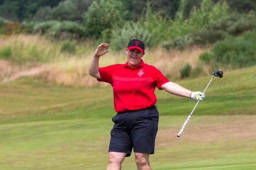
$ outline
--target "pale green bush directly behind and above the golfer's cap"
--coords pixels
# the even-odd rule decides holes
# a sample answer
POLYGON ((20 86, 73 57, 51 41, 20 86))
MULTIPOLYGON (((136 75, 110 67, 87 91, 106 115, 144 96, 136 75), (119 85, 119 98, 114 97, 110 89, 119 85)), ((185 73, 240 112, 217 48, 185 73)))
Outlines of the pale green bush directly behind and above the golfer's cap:
POLYGON ((141 39, 146 47, 153 47, 166 40, 165 30, 168 21, 159 14, 154 14, 149 4, 143 18, 138 22, 126 22, 122 27, 115 27, 111 31, 111 48, 116 50, 125 48, 131 39, 141 39))

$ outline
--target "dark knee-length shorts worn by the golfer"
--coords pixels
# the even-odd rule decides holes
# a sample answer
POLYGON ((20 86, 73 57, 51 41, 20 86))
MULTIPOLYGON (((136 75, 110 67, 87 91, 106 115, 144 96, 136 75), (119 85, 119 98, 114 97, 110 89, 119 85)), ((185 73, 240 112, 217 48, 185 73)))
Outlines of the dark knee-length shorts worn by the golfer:
POLYGON ((111 130, 109 152, 154 154, 159 114, 155 106, 117 113, 111 130))

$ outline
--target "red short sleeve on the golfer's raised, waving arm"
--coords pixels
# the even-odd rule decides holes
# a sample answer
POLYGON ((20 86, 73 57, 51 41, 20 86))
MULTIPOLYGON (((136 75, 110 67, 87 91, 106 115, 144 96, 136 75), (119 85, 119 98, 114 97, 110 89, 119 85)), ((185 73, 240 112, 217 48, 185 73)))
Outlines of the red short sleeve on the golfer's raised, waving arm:
POLYGON ((99 73, 100 73, 100 78, 101 79, 97 79, 97 80, 112 84, 112 75, 113 75, 113 72, 114 72, 114 67, 115 67, 115 65, 100 67, 99 68, 99 73))

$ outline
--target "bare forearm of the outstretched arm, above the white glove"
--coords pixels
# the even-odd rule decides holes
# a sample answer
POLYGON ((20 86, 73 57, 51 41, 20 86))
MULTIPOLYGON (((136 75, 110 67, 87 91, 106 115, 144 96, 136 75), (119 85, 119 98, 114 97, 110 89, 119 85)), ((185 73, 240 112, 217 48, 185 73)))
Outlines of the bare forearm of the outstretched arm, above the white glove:
POLYGON ((170 94, 187 97, 190 98, 191 92, 190 90, 180 86, 177 83, 167 82, 161 86, 162 89, 169 92, 170 94))

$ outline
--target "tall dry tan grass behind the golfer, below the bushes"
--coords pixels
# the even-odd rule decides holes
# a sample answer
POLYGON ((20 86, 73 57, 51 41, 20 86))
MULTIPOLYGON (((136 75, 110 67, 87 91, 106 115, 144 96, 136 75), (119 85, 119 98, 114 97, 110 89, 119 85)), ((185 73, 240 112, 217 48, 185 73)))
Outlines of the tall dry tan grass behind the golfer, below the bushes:
MULTIPOLYGON (((61 41, 52 41, 35 35, 11 36, 2 39, 2 42, 3 45, 0 47, 0 52, 1 49, 9 47, 11 49, 9 61, 13 63, 13 66, 19 65, 20 71, 24 69, 34 69, 36 71, 35 67, 40 67, 41 71, 38 72, 37 70, 36 74, 33 74, 33 71, 28 70, 28 72, 31 72, 33 76, 42 77, 51 82, 67 86, 99 86, 99 83, 88 74, 89 63, 96 48, 94 41, 75 43, 75 50, 72 53, 63 51, 63 43, 61 41), (43 70, 42 65, 44 65, 43 70)), ((110 44, 110 52, 100 58, 100 66, 125 63, 127 61, 125 47, 115 51, 110 44)), ((193 47, 180 52, 175 49, 164 50, 161 47, 146 47, 146 54, 142 59, 146 63, 156 66, 170 80, 175 80, 180 78, 179 72, 185 63, 191 65, 192 70, 201 65, 198 56, 205 52, 206 49, 193 47)), ((207 65, 201 67, 203 67, 203 72, 208 72, 207 65)), ((17 70, 12 73, 9 72, 10 80, 17 78, 17 74, 19 75, 18 77, 22 75, 17 70)), ((28 74, 24 75, 27 76, 28 74)))

